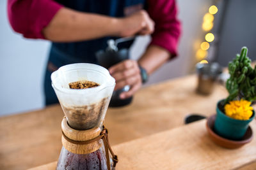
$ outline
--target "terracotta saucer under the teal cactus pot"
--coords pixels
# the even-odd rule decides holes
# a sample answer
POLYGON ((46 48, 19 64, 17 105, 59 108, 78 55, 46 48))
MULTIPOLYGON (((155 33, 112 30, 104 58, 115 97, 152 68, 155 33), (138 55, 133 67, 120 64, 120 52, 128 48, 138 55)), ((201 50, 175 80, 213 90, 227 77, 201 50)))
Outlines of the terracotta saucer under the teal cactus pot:
POLYGON ((226 138, 219 136, 218 134, 216 134, 213 131, 215 118, 216 118, 216 115, 212 115, 211 117, 207 118, 206 128, 207 128, 210 138, 217 145, 220 145, 224 148, 235 149, 235 148, 240 148, 241 146, 245 145, 246 143, 249 143, 250 141, 252 141, 253 131, 250 126, 248 127, 246 133, 244 134, 244 137, 239 141, 234 141, 234 140, 226 139, 226 138))

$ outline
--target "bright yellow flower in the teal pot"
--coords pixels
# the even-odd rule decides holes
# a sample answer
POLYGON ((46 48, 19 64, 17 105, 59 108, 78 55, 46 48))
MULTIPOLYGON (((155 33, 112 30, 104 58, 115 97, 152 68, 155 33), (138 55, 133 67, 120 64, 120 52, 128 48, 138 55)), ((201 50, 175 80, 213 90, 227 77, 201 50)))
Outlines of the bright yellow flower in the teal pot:
POLYGON ((228 117, 237 120, 248 120, 252 117, 253 108, 250 101, 241 99, 241 101, 230 101, 225 105, 225 113, 228 117))

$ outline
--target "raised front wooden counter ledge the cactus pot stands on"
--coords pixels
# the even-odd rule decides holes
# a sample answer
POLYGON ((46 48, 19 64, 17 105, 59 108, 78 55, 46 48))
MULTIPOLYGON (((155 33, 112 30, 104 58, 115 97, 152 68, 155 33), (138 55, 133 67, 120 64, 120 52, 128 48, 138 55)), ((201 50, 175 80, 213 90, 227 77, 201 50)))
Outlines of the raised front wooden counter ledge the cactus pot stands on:
MULTIPOLYGON (((206 120, 182 125, 113 147, 119 162, 116 169, 237 169, 256 160, 256 139, 230 150, 209 138, 206 120)), ((256 121, 250 126, 256 131, 256 121)), ((31 170, 54 170, 57 162, 31 170)))

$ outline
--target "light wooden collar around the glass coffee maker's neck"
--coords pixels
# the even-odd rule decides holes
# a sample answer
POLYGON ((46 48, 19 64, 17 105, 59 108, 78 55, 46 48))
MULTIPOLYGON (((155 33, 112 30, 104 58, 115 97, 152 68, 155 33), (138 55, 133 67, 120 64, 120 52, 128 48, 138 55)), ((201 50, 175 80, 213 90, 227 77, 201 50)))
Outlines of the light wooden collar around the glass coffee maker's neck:
MULTIPOLYGON (((63 118, 61 122, 61 129, 65 134, 65 136, 67 136, 67 138, 69 139, 72 139, 73 141, 88 141, 90 139, 93 139, 99 136, 101 131, 99 127, 94 127, 92 129, 88 129, 85 131, 77 131, 76 129, 72 129, 67 124, 67 118, 63 118)), ((70 143, 70 141, 67 141, 67 139, 65 139, 64 136, 62 135, 61 141, 62 141, 62 145, 64 146, 64 148, 66 148, 66 150, 72 153, 77 153, 77 154, 92 153, 92 152, 95 152, 96 150, 99 150, 99 148, 102 146, 101 139, 93 143, 78 145, 78 144, 70 143)))

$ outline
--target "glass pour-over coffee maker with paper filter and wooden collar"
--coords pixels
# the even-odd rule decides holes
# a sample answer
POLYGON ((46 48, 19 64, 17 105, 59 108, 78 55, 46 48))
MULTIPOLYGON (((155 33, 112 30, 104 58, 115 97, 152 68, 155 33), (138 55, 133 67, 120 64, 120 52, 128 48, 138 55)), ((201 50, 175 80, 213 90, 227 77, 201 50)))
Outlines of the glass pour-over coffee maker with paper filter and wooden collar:
POLYGON ((114 169, 117 156, 103 126, 115 79, 95 64, 69 64, 51 74, 52 87, 65 114, 62 149, 56 169, 114 169), (70 89, 69 83, 93 81, 98 87, 70 89), (109 152, 112 157, 109 157, 109 152))

